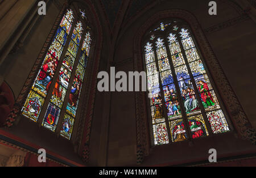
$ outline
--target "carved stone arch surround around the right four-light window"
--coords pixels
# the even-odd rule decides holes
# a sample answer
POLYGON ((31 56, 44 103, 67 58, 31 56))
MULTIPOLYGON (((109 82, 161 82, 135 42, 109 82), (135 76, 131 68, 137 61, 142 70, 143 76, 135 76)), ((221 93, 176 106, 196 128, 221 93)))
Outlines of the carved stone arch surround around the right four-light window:
MULTIPOLYGON (((158 12, 151 16, 147 21, 139 28, 139 31, 134 36, 134 70, 143 71, 143 52, 142 52, 142 39, 144 34, 148 31, 151 26, 154 26, 160 20, 167 18, 179 18, 183 19, 189 24, 191 30, 195 36, 199 49, 205 59, 205 63, 209 68, 209 73, 212 74, 214 83, 216 84, 217 90, 220 92, 220 96, 224 102, 226 111, 232 121, 234 129, 238 134, 238 137, 251 141, 253 145, 256 144, 256 133, 254 128, 251 126, 240 102, 237 99, 236 94, 232 90, 228 79, 225 77, 224 71, 222 70, 220 63, 214 55, 207 38, 204 35, 203 29, 201 28, 196 17, 188 11, 180 9, 172 9, 158 12), (220 87, 221 90, 220 90, 220 87)), ((136 124, 137 124, 137 163, 143 162, 144 156, 147 156, 150 152, 150 130, 148 129, 148 118, 147 116, 147 93, 136 92, 135 93, 135 105, 136 105, 136 124)))

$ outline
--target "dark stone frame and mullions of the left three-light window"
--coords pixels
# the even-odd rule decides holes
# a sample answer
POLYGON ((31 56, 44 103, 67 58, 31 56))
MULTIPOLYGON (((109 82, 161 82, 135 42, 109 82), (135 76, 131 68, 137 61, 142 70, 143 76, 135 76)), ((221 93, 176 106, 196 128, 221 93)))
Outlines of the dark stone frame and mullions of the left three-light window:
MULTIPOLYGON (((89 22, 87 17, 85 17, 85 18, 81 17, 80 10, 77 11, 75 7, 69 6, 69 7, 65 7, 63 9, 63 11, 60 11, 60 14, 59 14, 58 18, 55 20, 55 24, 52 26, 52 29, 53 28, 55 28, 55 29, 53 31, 51 30, 51 32, 50 32, 50 34, 52 33, 52 36, 50 38, 49 37, 47 38, 47 40, 49 40, 49 43, 48 43, 47 46, 46 45, 44 46, 44 49, 45 49, 44 52, 43 53, 41 52, 40 55, 39 55, 41 57, 40 58, 41 60, 39 62, 38 69, 35 70, 35 75, 32 78, 31 86, 29 86, 27 91, 28 91, 28 94, 31 91, 36 92, 35 90, 32 89, 32 86, 36 82, 36 78, 38 77, 39 71, 41 70, 42 63, 44 62, 45 57, 49 52, 49 48, 51 47, 53 40, 57 40, 59 42, 58 39, 55 39, 55 35, 56 35, 57 30, 60 28, 61 21, 63 20, 63 18, 65 18, 65 15, 68 12, 68 10, 72 10, 72 12, 73 12, 73 22, 69 22, 69 20, 66 18, 66 20, 68 20, 68 22, 71 23, 71 28, 69 29, 69 34, 67 34, 67 32, 65 32, 66 35, 67 35, 67 40, 65 41, 65 45, 63 46, 63 50, 62 50, 61 55, 59 57, 59 61, 58 61, 57 67, 56 67, 55 74, 51 78, 51 82, 52 82, 51 86, 49 87, 49 90, 48 90, 46 96, 43 96, 44 97, 44 103, 42 104, 38 119, 36 121, 33 121, 33 120, 31 120, 31 118, 29 118, 27 116, 23 116, 22 114, 20 116, 24 117, 24 119, 27 119, 30 122, 33 122, 33 124, 38 124, 39 128, 42 128, 46 132, 49 132, 53 135, 57 135, 57 137, 60 136, 61 138, 67 140, 68 142, 74 142, 74 139, 76 139, 76 135, 78 134, 77 132, 80 130, 78 127, 79 127, 79 123, 81 122, 80 115, 81 115, 81 107, 82 107, 82 96, 85 95, 86 86, 88 86, 88 82, 89 82, 88 81, 89 79, 86 79, 85 76, 88 75, 88 73, 89 73, 88 69, 90 69, 89 66, 92 65, 92 55, 93 55, 94 49, 95 49, 94 33, 92 31, 92 28, 89 27, 92 24, 89 22), (73 35, 73 32, 76 31, 76 25, 79 22, 82 23, 82 29, 83 30, 82 30, 82 33, 81 33, 81 40, 80 40, 80 44, 79 44, 78 49, 77 49, 76 57, 74 57, 73 54, 69 52, 68 46, 69 46, 69 43, 71 43, 71 41, 73 41, 72 40, 72 35, 73 35), (82 53, 81 49, 82 49, 82 45, 85 41, 85 35, 86 35, 87 32, 90 33, 90 39, 91 39, 90 40, 90 50, 89 50, 89 54, 88 54, 87 59, 86 59, 86 66, 85 66, 85 71, 84 71, 84 80, 81 82, 82 88, 81 88, 81 91, 80 91, 79 103, 78 103, 77 109, 76 109, 76 117, 73 117, 73 116, 69 115, 66 112, 67 103, 68 103, 68 95, 71 92, 72 80, 75 79, 77 66, 80 63, 80 55, 82 53), (63 104, 62 104, 62 107, 60 108, 60 113, 59 113, 59 118, 58 118, 58 121, 57 121, 57 124, 56 124, 56 129, 53 132, 52 130, 49 130, 49 129, 47 129, 43 126, 43 121, 44 121, 44 117, 45 117, 46 112, 47 112, 48 105, 50 103, 52 103, 51 98, 52 98, 53 88, 55 86, 55 83, 57 82, 57 78, 59 77, 60 68, 61 68, 61 66, 63 66, 65 54, 67 54, 67 53, 71 54, 71 56, 73 58, 75 58, 75 61, 73 63, 72 71, 71 71, 71 74, 70 74, 70 80, 69 80, 69 83, 68 83, 68 87, 66 88, 66 93, 65 93, 65 96, 64 96, 63 104), (65 138, 60 133, 61 132, 61 126, 63 126, 64 116, 65 116, 66 113, 69 116, 73 117, 74 120, 75 120, 74 123, 73 123, 73 130, 72 130, 70 139, 65 138)), ((83 11, 85 11, 85 10, 83 10, 83 11)), ((85 43, 87 44, 86 41, 85 41, 85 43)), ((36 94, 39 94, 39 93, 36 92, 36 94)), ((41 94, 39 94, 39 95, 42 96, 41 94)), ((24 99, 23 99, 23 103, 22 103, 22 105, 20 106, 20 109, 19 109, 20 111, 22 110, 22 108, 24 106, 24 103, 26 103, 27 99, 28 99, 28 95, 25 95, 24 99)), ((53 105, 55 105, 55 104, 53 104, 53 105)), ((58 107, 57 105, 55 105, 55 106, 58 107)))

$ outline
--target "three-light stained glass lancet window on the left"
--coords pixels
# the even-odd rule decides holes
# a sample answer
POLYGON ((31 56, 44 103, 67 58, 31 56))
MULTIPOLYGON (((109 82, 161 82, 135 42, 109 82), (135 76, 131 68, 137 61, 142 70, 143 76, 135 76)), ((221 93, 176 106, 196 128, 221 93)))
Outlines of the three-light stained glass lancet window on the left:
POLYGON ((89 59, 90 28, 85 19, 85 11, 77 17, 66 11, 22 108, 24 116, 41 121, 52 132, 59 125, 60 135, 67 139, 71 139, 89 59), (81 20, 74 24, 74 19, 81 20))

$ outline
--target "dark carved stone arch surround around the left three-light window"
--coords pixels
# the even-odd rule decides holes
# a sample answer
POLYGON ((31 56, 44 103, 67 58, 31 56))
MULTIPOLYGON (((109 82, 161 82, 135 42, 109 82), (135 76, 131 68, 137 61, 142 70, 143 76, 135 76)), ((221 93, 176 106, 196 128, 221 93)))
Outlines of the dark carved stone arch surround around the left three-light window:
MULTIPOLYGON (((89 58, 92 60, 88 61, 87 69, 85 71, 86 80, 84 82, 84 87, 82 87, 81 96, 80 96, 80 104, 79 109, 77 111, 77 121, 75 122, 74 130, 73 130, 73 138, 71 142, 74 146, 74 150, 83 158, 84 162, 87 162, 89 155, 89 141, 90 141, 90 129, 92 122, 92 113, 93 113, 93 105, 94 98, 96 94, 96 86, 97 86, 97 73, 98 67, 100 65, 100 54, 102 48, 102 27, 100 24, 100 19, 96 12, 96 9, 91 1, 89 0, 66 0, 63 7, 60 10, 59 15, 56 18, 55 23, 49 32, 49 35, 46 39, 46 42, 43 45, 42 50, 39 53, 38 58, 35 60, 35 64, 28 75, 26 82, 24 82, 24 86, 20 91, 18 97, 15 100, 14 107, 11 108, 11 111, 6 118, 5 126, 6 128, 11 128, 14 123, 18 124, 18 121, 22 116, 21 110, 26 101, 28 93, 30 92, 31 86, 34 83, 34 80, 38 74, 38 71, 42 65, 42 61, 47 54, 48 47, 51 45, 52 39, 55 35, 57 28, 65 14, 65 10, 72 9, 74 12, 74 16, 77 18, 81 10, 85 10, 86 12, 86 20, 89 22, 90 27, 84 26, 84 29, 88 29, 91 32, 91 36, 93 37, 91 43, 91 49, 89 58)), ((81 18, 80 18, 81 20, 81 18)), ((22 118, 27 119, 27 118, 22 118)), ((40 125, 41 123, 39 123, 40 125)), ((37 126, 35 124, 35 126, 37 126)), ((68 142, 68 141, 67 141, 68 142)))

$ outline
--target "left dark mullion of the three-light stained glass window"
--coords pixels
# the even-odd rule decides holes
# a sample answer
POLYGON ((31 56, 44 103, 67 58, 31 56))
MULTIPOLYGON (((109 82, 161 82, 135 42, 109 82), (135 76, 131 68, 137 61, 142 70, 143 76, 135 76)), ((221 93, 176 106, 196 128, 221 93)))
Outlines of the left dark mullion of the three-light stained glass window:
MULTIPOLYGON (((51 101, 52 92, 53 92, 53 89, 55 87, 55 83, 57 82, 57 78, 59 77, 60 69, 61 69, 62 63, 64 61, 65 54, 68 51, 69 43, 72 40, 71 39, 72 32, 76 28, 76 22, 77 22, 77 18, 75 17, 75 19, 73 20, 73 25, 72 25, 71 31, 69 32, 68 39, 67 39, 66 44, 65 44, 65 46, 63 48, 63 52, 61 53, 60 60, 58 62, 58 66, 57 66, 57 69, 55 71, 55 75, 54 75, 54 77, 52 79, 51 87, 49 87, 48 95, 46 96, 46 100, 44 101, 44 105, 43 105, 42 111, 41 111, 39 119, 38 119, 38 124, 39 124, 40 127, 42 126, 42 122, 44 120, 44 115, 46 114, 46 111, 47 111, 47 108, 48 108, 48 104, 51 101)), ((61 111, 62 111, 62 109, 61 109, 61 111)))

